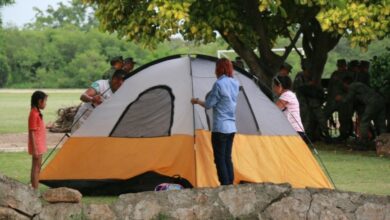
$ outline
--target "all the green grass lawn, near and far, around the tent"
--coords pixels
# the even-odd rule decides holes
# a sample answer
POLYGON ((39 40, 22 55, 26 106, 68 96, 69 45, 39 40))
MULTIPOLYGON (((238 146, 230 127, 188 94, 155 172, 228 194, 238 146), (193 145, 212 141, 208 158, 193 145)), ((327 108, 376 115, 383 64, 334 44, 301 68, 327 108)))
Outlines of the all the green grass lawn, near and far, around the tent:
MULTIPOLYGON (((60 107, 76 105, 83 90, 44 90, 49 94, 45 121, 54 121, 60 107)), ((26 132, 33 90, 0 90, 0 134, 26 132)), ((320 156, 337 189, 390 195, 390 158, 374 152, 350 152, 342 146, 318 145, 320 156)), ((0 173, 28 183, 31 157, 26 152, 1 153, 0 173)), ((41 185, 40 190, 44 191, 41 185)), ((84 197, 84 203, 112 203, 116 197, 84 197)))

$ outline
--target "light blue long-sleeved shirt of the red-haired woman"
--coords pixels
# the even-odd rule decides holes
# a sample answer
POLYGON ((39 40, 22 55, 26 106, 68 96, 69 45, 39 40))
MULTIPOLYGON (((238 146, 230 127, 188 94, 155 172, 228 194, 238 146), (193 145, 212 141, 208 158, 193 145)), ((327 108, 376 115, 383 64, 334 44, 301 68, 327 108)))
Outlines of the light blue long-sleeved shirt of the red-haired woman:
POLYGON ((213 108, 213 132, 233 133, 236 128, 236 106, 239 83, 236 79, 220 76, 206 98, 206 109, 213 108))

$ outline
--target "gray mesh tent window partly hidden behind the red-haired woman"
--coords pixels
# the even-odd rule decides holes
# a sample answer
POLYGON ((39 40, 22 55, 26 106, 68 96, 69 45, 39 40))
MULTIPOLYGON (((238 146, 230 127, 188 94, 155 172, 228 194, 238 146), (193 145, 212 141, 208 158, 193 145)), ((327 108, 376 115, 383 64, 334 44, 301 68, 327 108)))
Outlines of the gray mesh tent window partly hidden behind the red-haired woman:
MULTIPOLYGON (((209 94, 207 94, 208 96, 209 94)), ((206 110, 207 123, 210 130, 213 128, 213 111, 206 110)), ((244 88, 240 87, 236 107, 236 126, 237 133, 240 134, 261 134, 257 120, 253 114, 253 110, 249 104, 248 98, 245 94, 244 88)))

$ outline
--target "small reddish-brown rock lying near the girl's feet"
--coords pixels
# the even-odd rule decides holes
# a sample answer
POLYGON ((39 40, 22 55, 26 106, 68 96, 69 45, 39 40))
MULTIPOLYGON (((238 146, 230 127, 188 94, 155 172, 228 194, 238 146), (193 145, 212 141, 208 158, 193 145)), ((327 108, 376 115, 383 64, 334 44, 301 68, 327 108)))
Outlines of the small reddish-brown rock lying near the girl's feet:
POLYGON ((43 193, 42 198, 50 203, 79 203, 81 202, 82 195, 75 189, 60 187, 48 189, 45 193, 43 193))

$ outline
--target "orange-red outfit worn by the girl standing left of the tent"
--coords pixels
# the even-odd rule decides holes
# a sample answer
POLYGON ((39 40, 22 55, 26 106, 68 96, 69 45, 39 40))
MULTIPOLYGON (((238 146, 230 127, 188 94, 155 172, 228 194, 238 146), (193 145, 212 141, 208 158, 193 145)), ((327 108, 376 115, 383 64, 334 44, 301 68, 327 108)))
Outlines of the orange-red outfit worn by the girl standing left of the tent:
POLYGON ((30 116, 28 117, 28 153, 33 154, 33 143, 30 133, 34 131, 35 146, 38 155, 47 151, 46 147, 46 128, 43 119, 39 116, 39 111, 36 108, 31 108, 30 116))

